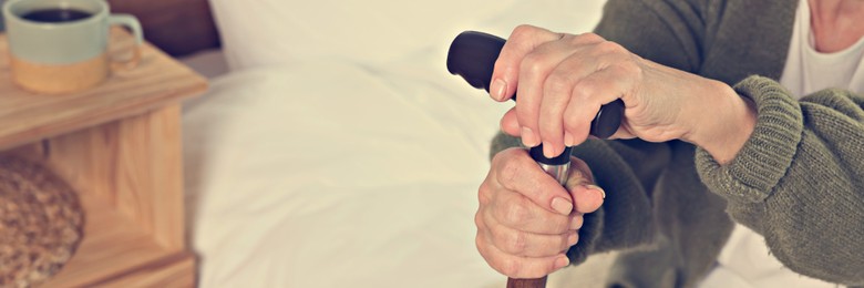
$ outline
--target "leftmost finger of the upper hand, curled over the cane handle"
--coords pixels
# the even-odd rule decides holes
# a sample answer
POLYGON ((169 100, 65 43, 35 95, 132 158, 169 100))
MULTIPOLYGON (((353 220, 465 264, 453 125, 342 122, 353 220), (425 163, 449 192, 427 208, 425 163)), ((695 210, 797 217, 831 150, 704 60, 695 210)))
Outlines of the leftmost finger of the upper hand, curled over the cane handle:
POLYGON ((516 27, 495 61, 490 95, 497 101, 506 101, 514 95, 518 85, 522 59, 536 47, 559 38, 560 34, 546 29, 533 25, 516 27))

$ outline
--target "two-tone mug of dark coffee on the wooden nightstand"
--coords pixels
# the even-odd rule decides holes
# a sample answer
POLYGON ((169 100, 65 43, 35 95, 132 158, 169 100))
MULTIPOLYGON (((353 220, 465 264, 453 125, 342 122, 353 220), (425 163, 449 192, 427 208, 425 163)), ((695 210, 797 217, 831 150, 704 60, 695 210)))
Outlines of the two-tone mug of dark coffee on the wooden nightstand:
POLYGON ((12 82, 21 89, 39 94, 80 92, 114 71, 134 68, 141 59, 141 23, 130 14, 112 14, 105 0, 0 1, 8 39, 8 49, 0 52, 8 51, 12 82), (113 25, 128 28, 135 37, 128 61, 109 55, 113 25))

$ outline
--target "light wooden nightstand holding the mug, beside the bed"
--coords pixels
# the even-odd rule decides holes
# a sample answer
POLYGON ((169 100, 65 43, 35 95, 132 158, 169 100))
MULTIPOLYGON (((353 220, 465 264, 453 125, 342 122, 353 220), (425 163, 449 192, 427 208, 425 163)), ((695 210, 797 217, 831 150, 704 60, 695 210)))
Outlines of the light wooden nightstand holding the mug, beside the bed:
MULTIPOLYGON (((132 43, 112 31, 112 50, 132 43), (115 44, 120 43, 120 44, 115 44)), ((84 238, 45 287, 189 287, 181 101, 207 81, 150 44, 100 86, 34 95, 10 80, 0 34, 0 150, 44 163, 79 194, 84 238)))

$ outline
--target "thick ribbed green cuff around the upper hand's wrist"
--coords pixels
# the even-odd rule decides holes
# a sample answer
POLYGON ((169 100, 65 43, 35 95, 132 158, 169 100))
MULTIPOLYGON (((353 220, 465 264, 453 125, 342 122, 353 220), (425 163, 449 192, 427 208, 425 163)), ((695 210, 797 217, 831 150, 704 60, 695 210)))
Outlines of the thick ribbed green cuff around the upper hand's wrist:
POLYGON ((801 106, 768 78, 749 76, 734 90, 755 103, 753 133, 728 165, 719 165, 711 154, 698 148, 696 166, 712 192, 732 202, 758 203, 771 195, 792 163, 803 132, 801 106))

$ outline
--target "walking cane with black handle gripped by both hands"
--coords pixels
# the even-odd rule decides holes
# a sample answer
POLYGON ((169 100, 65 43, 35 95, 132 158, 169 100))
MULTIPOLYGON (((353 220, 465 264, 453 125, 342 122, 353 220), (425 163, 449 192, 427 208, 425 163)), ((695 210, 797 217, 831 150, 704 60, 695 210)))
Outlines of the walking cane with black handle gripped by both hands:
MULTIPOLYGON (((450 44, 448 71, 451 74, 462 76, 472 86, 485 89, 488 92, 495 60, 498 59, 504 43, 504 39, 492 34, 476 31, 462 32, 450 44)), ((515 101, 516 96, 514 95, 512 99, 515 101)), ((590 134, 599 138, 611 136, 621 124, 623 114, 624 102, 620 99, 603 105, 597 112, 597 116, 592 121, 590 134)), ((569 175, 572 148, 566 147, 560 155, 547 158, 543 155, 543 145, 538 145, 532 147, 528 154, 541 165, 543 171, 557 179, 562 185, 565 185, 567 175, 569 175)), ((537 279, 507 279, 507 288, 543 287, 546 287, 546 277, 537 279)))

